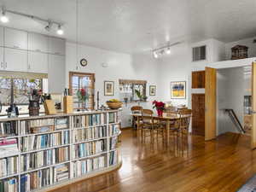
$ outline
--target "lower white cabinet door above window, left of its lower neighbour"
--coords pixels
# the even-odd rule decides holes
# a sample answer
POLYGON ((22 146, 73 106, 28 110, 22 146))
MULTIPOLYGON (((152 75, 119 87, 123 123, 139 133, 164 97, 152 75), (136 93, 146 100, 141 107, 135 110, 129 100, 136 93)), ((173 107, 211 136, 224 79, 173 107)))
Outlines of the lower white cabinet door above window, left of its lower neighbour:
POLYGON ((8 71, 27 72, 27 50, 5 48, 4 68, 8 71))

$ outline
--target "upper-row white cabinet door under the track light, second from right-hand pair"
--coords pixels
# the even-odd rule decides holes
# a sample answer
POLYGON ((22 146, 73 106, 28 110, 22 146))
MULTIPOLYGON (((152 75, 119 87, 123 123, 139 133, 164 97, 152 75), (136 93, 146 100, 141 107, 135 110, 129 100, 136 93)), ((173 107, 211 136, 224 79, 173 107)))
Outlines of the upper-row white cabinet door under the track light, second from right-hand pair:
POLYGON ((15 49, 27 49, 27 32, 4 28, 5 47, 15 49))

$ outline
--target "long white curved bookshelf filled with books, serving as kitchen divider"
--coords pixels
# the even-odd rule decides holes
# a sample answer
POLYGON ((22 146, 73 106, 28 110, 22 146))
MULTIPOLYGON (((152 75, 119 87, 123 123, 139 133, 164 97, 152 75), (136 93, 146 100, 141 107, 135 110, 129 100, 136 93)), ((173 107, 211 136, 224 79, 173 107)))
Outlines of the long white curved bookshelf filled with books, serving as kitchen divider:
POLYGON ((119 110, 0 118, 0 192, 47 191, 121 166, 119 110))

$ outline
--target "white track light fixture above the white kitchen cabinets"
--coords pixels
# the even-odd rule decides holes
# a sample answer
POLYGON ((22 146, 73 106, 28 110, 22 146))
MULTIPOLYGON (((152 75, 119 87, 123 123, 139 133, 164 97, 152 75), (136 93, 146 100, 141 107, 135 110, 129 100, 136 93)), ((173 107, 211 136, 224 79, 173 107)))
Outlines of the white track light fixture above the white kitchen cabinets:
POLYGON ((0 20, 3 23, 9 22, 9 18, 6 16, 6 13, 13 14, 13 15, 20 15, 20 16, 23 16, 23 17, 30 18, 32 20, 44 21, 45 23, 47 23, 47 26, 44 27, 44 29, 46 31, 50 32, 51 29, 53 28, 53 25, 55 25, 56 26, 55 27, 56 33, 58 35, 63 35, 64 34, 64 31, 62 29, 63 24, 61 24, 60 22, 57 22, 55 20, 45 20, 44 18, 35 16, 35 15, 27 15, 27 14, 23 14, 23 13, 20 13, 20 12, 17 12, 17 11, 13 11, 13 10, 9 10, 9 9, 4 9, 4 7, 2 7, 2 15, 0 17, 0 20))

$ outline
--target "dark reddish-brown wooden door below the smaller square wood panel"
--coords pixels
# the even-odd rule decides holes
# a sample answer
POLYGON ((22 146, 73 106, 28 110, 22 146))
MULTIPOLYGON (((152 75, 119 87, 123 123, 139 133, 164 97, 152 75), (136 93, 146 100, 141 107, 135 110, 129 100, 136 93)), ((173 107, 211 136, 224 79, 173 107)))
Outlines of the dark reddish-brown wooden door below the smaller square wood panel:
POLYGON ((205 94, 192 94, 192 133, 205 136, 205 94))

